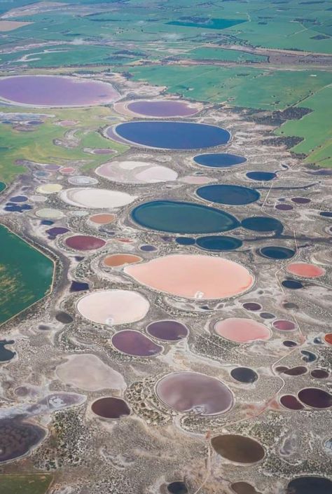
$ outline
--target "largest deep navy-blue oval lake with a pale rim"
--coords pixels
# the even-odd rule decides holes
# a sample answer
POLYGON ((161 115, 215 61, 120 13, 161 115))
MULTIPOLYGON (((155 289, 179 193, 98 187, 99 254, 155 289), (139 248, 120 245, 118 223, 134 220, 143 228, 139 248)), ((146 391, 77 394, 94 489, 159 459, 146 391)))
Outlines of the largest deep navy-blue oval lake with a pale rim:
POLYGON ((223 128, 191 122, 126 122, 116 125, 115 131, 132 144, 158 149, 202 149, 226 144, 230 139, 223 128))

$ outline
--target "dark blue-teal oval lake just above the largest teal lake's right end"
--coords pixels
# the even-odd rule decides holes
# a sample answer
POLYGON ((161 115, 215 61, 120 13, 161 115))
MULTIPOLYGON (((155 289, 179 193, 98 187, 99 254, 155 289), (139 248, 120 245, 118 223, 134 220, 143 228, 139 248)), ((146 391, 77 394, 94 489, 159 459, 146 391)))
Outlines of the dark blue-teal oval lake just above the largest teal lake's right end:
POLYGON ((231 206, 254 203, 260 198, 260 193, 254 188, 238 185, 206 185, 198 188, 196 193, 211 203, 231 206))

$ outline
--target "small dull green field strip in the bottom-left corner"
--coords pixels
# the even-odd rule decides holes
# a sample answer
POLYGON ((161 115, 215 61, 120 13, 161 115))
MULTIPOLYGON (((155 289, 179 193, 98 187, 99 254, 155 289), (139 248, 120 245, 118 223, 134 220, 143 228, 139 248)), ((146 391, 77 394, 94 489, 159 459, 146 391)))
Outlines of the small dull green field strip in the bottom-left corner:
POLYGON ((0 474, 2 494, 46 494, 53 477, 50 474, 0 474))

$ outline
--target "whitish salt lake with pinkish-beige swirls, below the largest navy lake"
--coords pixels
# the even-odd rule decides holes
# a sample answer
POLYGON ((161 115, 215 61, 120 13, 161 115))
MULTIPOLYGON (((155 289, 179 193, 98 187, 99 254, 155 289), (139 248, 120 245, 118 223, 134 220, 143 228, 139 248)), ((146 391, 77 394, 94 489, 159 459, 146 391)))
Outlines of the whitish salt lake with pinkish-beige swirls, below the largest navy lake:
POLYGON ((145 161, 110 161, 95 170, 99 177, 127 184, 155 184, 177 179, 171 168, 145 161))

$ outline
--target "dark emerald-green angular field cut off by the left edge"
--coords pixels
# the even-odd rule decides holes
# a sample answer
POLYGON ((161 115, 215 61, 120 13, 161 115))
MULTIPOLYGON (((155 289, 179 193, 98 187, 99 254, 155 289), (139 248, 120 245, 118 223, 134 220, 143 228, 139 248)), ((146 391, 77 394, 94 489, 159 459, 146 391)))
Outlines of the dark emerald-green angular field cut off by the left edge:
POLYGON ((53 261, 0 225, 0 324, 48 293, 53 261))

